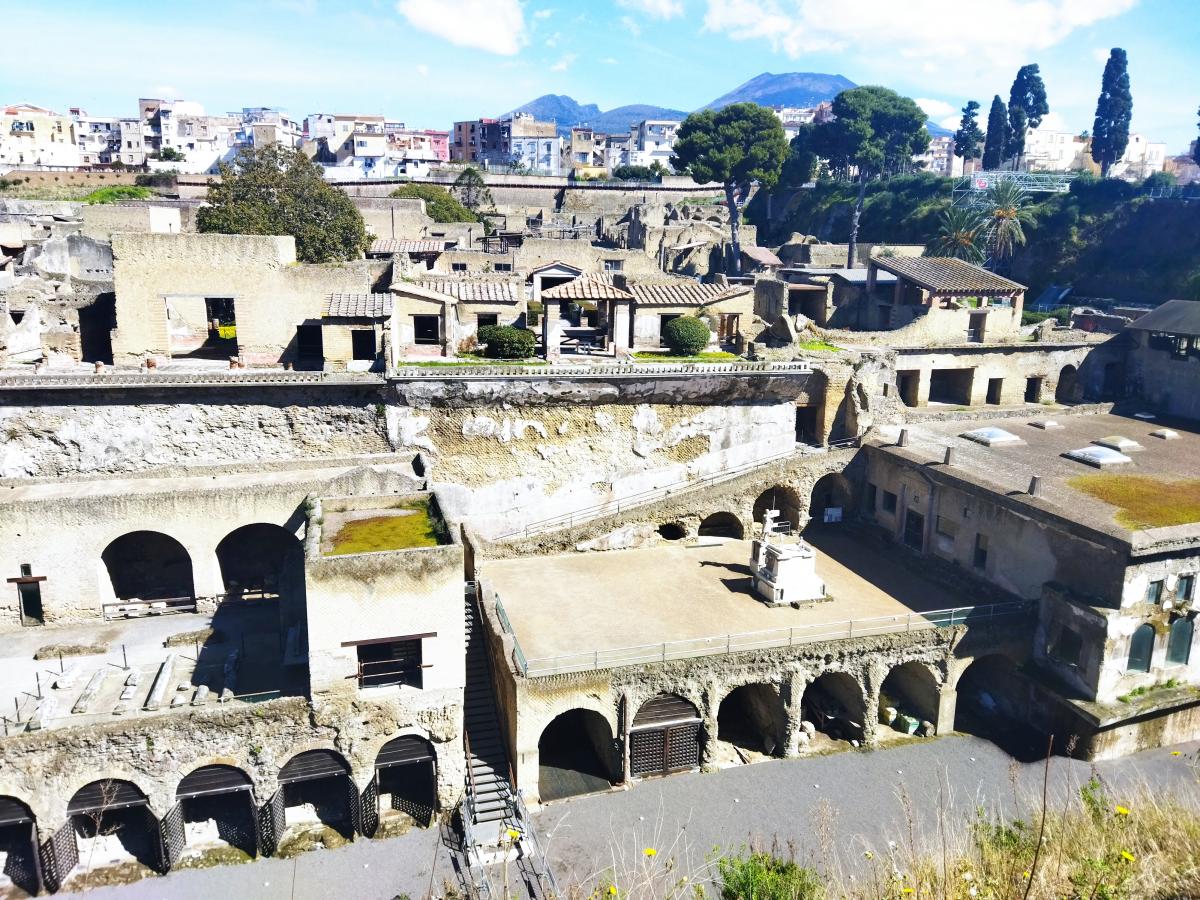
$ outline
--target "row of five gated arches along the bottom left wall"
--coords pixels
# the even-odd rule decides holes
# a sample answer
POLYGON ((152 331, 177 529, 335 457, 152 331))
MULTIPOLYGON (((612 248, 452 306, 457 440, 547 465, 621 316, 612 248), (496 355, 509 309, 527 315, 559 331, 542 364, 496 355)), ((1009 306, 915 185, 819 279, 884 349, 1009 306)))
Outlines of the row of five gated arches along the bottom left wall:
POLYGON ((247 857, 271 856, 296 827, 326 827, 343 839, 373 835, 392 811, 428 826, 437 809, 437 754, 415 734, 392 738, 376 756, 361 792, 350 764, 336 750, 305 750, 278 772, 277 790, 257 798, 244 769, 215 763, 180 779, 161 817, 134 781, 106 778, 72 794, 66 821, 40 835, 29 805, 0 797, 4 874, 29 894, 59 889, 80 860, 137 863, 169 871, 192 850, 229 847, 247 857))

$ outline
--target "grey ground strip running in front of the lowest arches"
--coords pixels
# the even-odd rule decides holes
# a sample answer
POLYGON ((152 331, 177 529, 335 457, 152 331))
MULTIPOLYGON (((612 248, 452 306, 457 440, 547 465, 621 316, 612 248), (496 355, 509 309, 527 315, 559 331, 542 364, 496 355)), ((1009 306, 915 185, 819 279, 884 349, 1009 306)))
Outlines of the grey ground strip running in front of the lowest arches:
MULTIPOLYGON (((1198 748, 1147 750, 1094 768, 1115 802, 1147 785, 1200 805, 1200 781, 1188 766, 1188 755, 1198 748), (1172 750, 1181 755, 1172 756, 1172 750)), ((1052 758, 1052 800, 1075 796, 1091 769, 1088 763, 1052 758)), ((989 742, 950 736, 875 752, 846 751, 654 779, 628 791, 550 804, 535 820, 563 886, 641 865, 647 847, 656 851, 658 864, 673 857, 677 868, 694 871, 703 870, 714 848, 750 842, 791 845, 800 860, 833 848, 848 868, 865 850, 880 852, 889 840, 907 841, 908 812, 899 797, 901 788, 910 799, 918 842, 934 846, 940 841, 941 809, 953 845, 965 839, 964 826, 980 804, 1006 814, 1025 811, 1024 804, 1040 793, 1043 772, 1042 762, 1018 763, 989 742)), ((427 895, 434 865, 432 883, 434 895, 440 895, 442 878, 451 874, 437 832, 425 830, 392 840, 360 840, 294 860, 178 871, 122 888, 91 890, 86 896, 390 900, 408 894, 419 900, 427 895)))

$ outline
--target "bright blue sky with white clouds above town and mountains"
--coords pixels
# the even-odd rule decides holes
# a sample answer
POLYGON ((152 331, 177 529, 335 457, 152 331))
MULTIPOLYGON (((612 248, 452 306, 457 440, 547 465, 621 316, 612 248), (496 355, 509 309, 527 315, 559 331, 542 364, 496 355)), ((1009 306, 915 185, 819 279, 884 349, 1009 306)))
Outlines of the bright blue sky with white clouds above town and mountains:
POLYGON ((692 109, 761 72, 841 73, 956 120, 1038 62, 1052 122, 1090 128, 1129 53, 1134 130, 1182 152, 1200 106, 1198 0, 0 0, 22 40, 0 101, 101 115, 139 96, 384 113, 416 127, 541 94, 692 109), (37 40, 44 35, 44 41, 37 40))

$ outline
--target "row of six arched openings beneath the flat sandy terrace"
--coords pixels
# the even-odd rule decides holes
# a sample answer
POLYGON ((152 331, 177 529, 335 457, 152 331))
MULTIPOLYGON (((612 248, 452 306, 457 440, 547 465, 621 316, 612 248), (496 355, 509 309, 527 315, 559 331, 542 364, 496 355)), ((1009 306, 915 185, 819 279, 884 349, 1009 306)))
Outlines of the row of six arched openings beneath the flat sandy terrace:
POLYGON ((785 702, 775 684, 734 686, 716 704, 715 719, 706 719, 688 697, 664 692, 631 710, 628 725, 623 715, 616 716, 624 734, 614 734, 599 709, 569 709, 539 737, 538 794, 542 802, 556 800, 607 790, 626 776, 688 772, 713 761, 718 750, 743 761, 791 756, 798 752, 798 733, 810 730, 817 746, 862 743, 876 733, 886 706, 938 731, 960 727, 1001 743, 1013 736, 1012 721, 1022 719, 1016 709, 997 708, 1006 694, 1000 685, 1014 668, 1007 656, 986 655, 947 685, 930 665, 901 662, 880 684, 880 709, 869 709, 863 685, 841 671, 823 672, 806 684, 798 704, 785 702), (954 703, 943 707, 946 690, 956 691, 958 712, 954 703), (938 721, 943 708, 950 721, 938 721))

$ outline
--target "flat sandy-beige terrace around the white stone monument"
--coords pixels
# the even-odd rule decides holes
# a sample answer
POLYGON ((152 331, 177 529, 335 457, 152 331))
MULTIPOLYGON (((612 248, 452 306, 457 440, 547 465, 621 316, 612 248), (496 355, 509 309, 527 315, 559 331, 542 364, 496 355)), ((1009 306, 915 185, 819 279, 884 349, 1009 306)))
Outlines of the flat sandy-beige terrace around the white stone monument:
MULTIPOLYGON (((828 600, 793 610, 751 593, 750 541, 488 560, 530 676, 948 624, 964 599, 840 529, 812 535, 828 600), (931 620, 932 619, 932 620, 931 620)), ((961 622, 962 611, 958 612, 961 622)))

